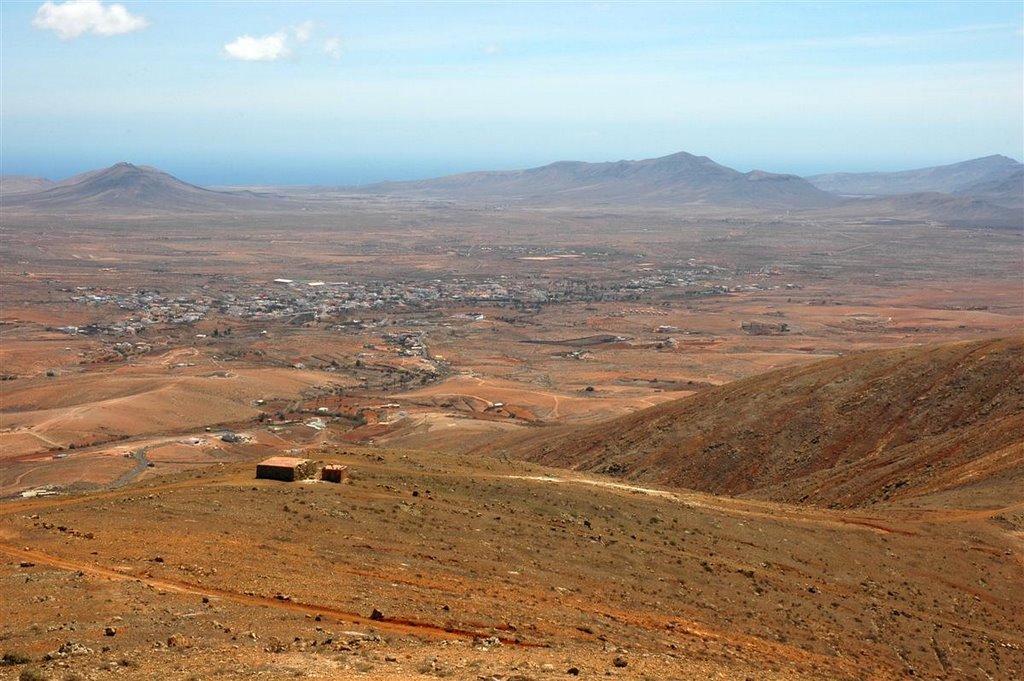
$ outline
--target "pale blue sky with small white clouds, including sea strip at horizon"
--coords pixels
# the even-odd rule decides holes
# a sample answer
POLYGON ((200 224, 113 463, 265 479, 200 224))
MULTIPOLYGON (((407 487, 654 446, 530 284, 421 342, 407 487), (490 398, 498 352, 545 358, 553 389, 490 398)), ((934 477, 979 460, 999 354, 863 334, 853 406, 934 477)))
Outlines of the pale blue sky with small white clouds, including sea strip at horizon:
POLYGON ((0 173, 353 184, 1024 156, 1024 2, 0 3, 0 173))

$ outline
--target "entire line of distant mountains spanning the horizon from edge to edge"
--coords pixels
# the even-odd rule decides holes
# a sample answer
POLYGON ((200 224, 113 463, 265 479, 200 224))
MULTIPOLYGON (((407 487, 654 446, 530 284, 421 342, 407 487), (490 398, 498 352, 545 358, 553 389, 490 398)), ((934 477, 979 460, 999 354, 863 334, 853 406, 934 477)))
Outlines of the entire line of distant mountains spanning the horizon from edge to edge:
POLYGON ((313 204, 330 211, 341 210, 343 204, 338 201, 343 196, 376 195, 577 208, 795 210, 819 216, 1022 228, 1022 168, 1013 159, 991 156, 897 173, 837 173, 804 179, 760 170, 741 173, 707 157, 681 152, 643 161, 561 161, 525 170, 355 187, 250 191, 207 189, 156 168, 119 163, 60 182, 5 176, 0 178, 0 200, 5 210, 48 215, 150 215, 286 211, 313 204))

